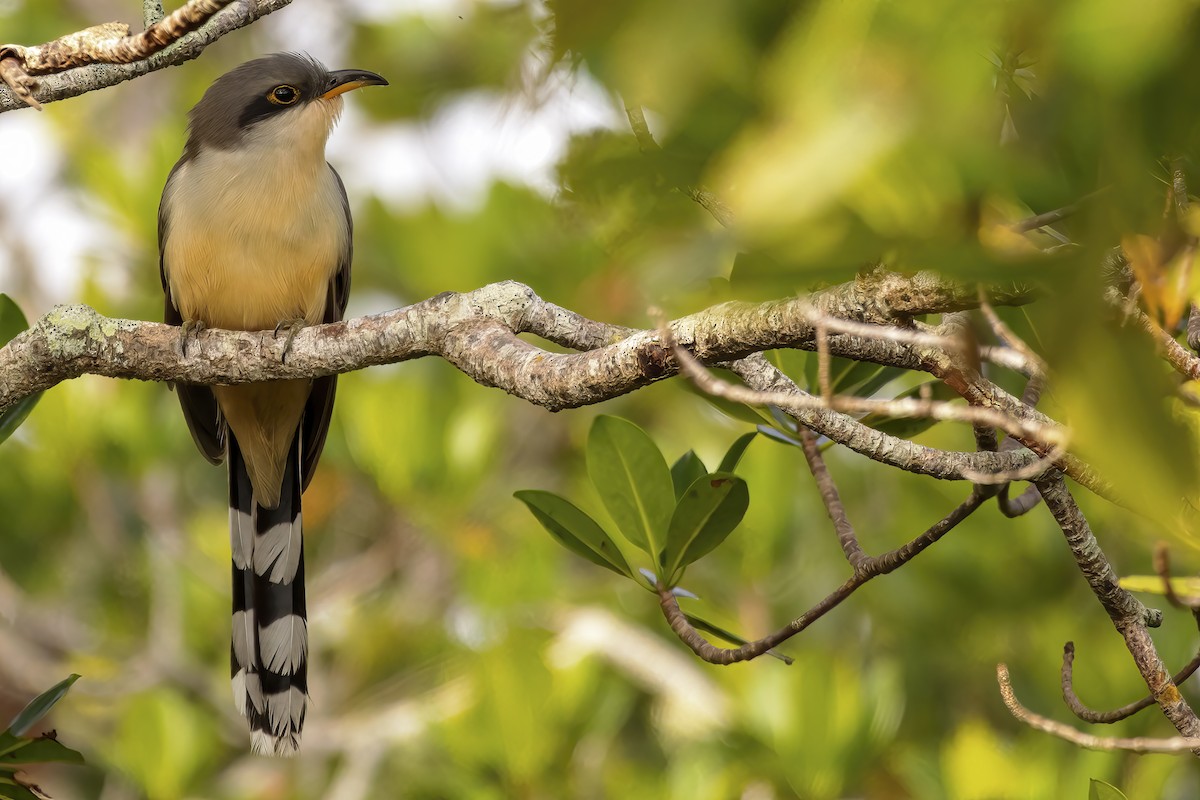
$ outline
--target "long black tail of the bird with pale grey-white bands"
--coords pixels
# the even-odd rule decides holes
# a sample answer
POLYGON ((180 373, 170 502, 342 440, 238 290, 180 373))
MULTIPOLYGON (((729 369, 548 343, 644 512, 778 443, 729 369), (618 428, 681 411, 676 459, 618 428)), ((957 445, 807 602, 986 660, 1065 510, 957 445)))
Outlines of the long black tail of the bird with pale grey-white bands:
POLYGON ((292 443, 280 504, 254 501, 241 449, 229 434, 233 553, 233 697, 254 752, 294 756, 308 703, 308 625, 300 533, 300 443, 292 443))

